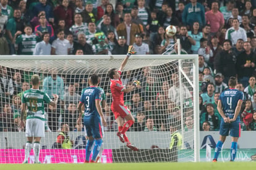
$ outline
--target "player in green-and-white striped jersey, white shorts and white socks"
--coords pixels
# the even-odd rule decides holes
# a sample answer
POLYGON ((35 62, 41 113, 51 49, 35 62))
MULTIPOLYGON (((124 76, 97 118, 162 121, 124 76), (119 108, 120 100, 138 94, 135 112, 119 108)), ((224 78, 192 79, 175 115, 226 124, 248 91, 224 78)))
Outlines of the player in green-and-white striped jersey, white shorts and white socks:
POLYGON ((45 137, 45 103, 55 107, 58 103, 59 96, 53 94, 54 101, 51 100, 48 94, 39 90, 40 77, 33 75, 31 78, 32 89, 24 92, 22 95, 22 109, 20 117, 20 126, 24 127, 23 117, 27 109, 26 132, 27 143, 25 145, 25 159, 23 163, 28 163, 28 156, 32 149, 34 137, 33 151, 35 154, 35 163, 40 163, 40 139, 45 137))

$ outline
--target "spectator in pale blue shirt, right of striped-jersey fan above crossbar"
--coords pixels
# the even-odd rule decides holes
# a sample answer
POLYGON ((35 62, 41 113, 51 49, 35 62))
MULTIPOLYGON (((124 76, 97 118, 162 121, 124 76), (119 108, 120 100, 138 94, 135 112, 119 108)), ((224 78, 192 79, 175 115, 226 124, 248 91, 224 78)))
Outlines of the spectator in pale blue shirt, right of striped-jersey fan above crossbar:
POLYGON ((36 43, 33 55, 51 55, 51 44, 49 43, 49 33, 42 33, 43 41, 36 43))

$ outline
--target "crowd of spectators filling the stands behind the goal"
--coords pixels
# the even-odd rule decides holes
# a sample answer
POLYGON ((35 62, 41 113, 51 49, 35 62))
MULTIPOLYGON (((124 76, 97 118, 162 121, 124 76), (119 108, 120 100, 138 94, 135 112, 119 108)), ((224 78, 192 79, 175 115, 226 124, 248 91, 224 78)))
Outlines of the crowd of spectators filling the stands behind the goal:
MULTIPOLYGON (((218 97, 228 88, 229 77, 237 76, 236 88, 244 92, 242 129, 255 131, 255 1, 119 0, 113 6, 108 0, 0 0, 0 55, 126 54, 129 45, 136 54, 177 54, 177 45, 173 46, 177 39, 181 54, 199 55, 200 129, 219 130, 218 97), (168 25, 176 26, 176 35, 165 34, 168 25)), ((168 131, 168 119, 181 122, 179 78, 172 74, 171 79, 156 82, 147 75, 149 69, 137 70, 142 72, 137 76, 127 71, 122 77, 126 86, 132 79, 142 82, 139 90, 125 96, 136 119, 132 129, 168 131)), ((23 131, 19 129, 21 96, 30 88, 32 74, 1 67, 0 131, 23 131)), ((46 131, 58 131, 61 122, 68 123, 70 131, 81 130, 76 124, 77 103, 88 75, 70 81, 71 75, 55 70, 41 76, 41 90, 50 97, 60 96, 58 107, 46 109, 46 131)), ((117 131, 108 86, 101 83, 108 101, 105 130, 117 131)), ((189 89, 182 86, 184 99, 192 100, 189 89)), ((186 109, 186 113, 192 110, 186 109)), ((192 115, 186 115, 184 123, 187 131, 192 129, 192 115)))

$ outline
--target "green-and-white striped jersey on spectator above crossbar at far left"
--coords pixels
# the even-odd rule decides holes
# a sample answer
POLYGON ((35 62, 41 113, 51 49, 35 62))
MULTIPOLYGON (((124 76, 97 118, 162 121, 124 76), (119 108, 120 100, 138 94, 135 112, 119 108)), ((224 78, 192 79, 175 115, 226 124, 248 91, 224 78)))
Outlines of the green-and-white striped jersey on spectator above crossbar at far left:
POLYGON ((21 34, 16 39, 15 43, 18 45, 18 55, 33 55, 35 50, 36 42, 38 41, 38 37, 35 34, 27 35, 21 34))

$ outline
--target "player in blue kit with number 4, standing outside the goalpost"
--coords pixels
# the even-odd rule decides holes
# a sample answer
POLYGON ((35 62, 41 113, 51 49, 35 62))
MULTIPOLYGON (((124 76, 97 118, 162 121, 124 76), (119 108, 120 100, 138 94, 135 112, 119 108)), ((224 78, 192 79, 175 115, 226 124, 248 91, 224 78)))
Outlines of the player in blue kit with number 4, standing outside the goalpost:
POLYGON ((221 152, 223 143, 226 140, 226 136, 231 136, 231 160, 234 161, 236 158, 237 151, 237 140, 240 137, 240 116, 239 112, 242 106, 242 99, 244 94, 241 91, 235 89, 237 79, 235 77, 229 78, 228 85, 229 89, 222 92, 220 99, 218 100, 217 109, 222 116, 220 124, 220 140, 218 141, 215 148, 215 155, 213 162, 216 162, 221 152))

